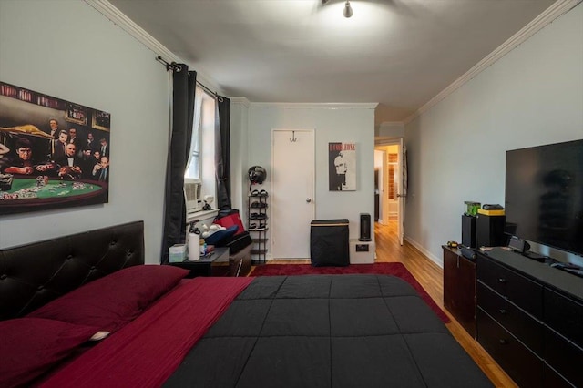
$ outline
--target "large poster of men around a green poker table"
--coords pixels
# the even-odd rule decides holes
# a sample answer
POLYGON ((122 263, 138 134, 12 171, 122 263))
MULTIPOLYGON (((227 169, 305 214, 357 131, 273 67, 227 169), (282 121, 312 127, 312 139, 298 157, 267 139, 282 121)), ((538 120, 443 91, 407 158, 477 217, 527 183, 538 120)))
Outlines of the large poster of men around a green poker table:
POLYGON ((102 110, 0 82, 0 216, 107 203, 109 120, 102 110), (98 125, 88 117, 100 117, 98 125))

